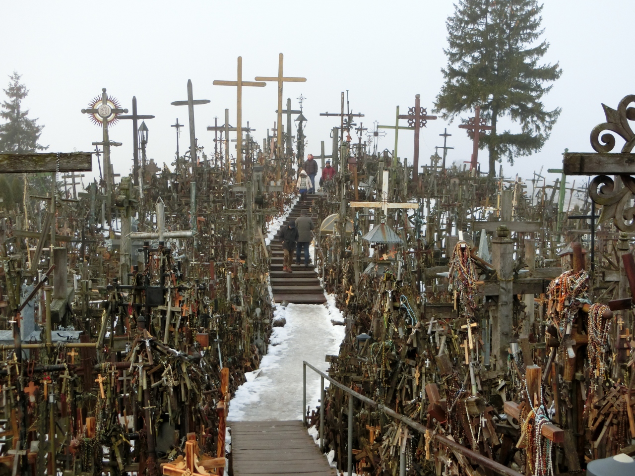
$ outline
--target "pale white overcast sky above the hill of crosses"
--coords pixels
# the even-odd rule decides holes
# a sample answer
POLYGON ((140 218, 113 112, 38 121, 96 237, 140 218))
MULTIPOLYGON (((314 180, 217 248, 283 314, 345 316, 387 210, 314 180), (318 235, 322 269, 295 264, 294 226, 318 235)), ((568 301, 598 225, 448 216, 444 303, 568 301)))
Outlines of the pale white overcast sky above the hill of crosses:
MULTIPOLYGON (((41 137, 51 151, 92 150, 101 130, 81 109, 107 88, 123 107, 131 109, 137 96, 138 112, 153 114, 149 156, 159 164, 172 161, 178 117, 187 125, 187 108, 170 102, 187 98, 191 79, 196 99, 211 103, 195 107, 196 135, 205 150, 213 150, 213 133, 206 126, 224 122, 224 109, 236 124, 236 88, 213 86, 215 79, 236 79, 236 58, 243 57, 243 80, 276 76, 278 53, 284 53, 285 76, 304 76, 306 83, 284 84, 286 98, 300 94, 308 119, 306 152, 319 154, 320 141, 331 152, 330 129, 338 118, 319 117, 337 112, 340 91, 349 90, 351 107, 366 116, 364 126, 394 124, 395 107, 401 113, 432 100, 443 83, 446 59, 445 20, 454 11, 450 0, 418 1, 113 1, 8 2, 0 4, 3 47, 0 48, 0 87, 17 70, 29 88, 25 102, 30 117, 45 125, 41 137)), ((563 76, 545 98, 548 109, 563 112, 544 149, 520 157, 514 167, 504 164, 505 175, 531 178, 533 171, 561 167, 565 147, 591 150, 589 133, 604 121, 601 103, 617 107, 632 87, 635 66, 627 51, 632 30, 632 0, 546 0, 545 38, 551 48, 545 62, 559 62, 563 76)), ((0 94, 0 96, 2 96, 0 94)), ((276 120, 276 85, 243 89, 243 125, 257 131, 262 143, 276 120)), ((471 115, 471 114, 470 114, 471 115)), ((464 115, 465 117, 468 114, 464 115)), ((402 121, 403 122, 403 121, 402 121)), ((286 121, 284 121, 286 124, 286 121)), ((452 136, 448 161, 467 161, 471 142, 458 121, 429 121, 422 132, 420 163, 429 163, 435 145, 442 145, 445 127, 452 136)), ((112 153, 115 171, 127 173, 132 159, 131 121, 110 129, 110 139, 123 142, 112 153)), ((413 133, 401 131, 399 156, 412 157, 413 133)), ((182 133, 187 148, 187 130, 182 133)), ((392 133, 380 149, 392 150, 392 133)), ((487 169, 486 152, 479 154, 487 169)), ((411 160, 410 160, 411 162, 411 160)), ((97 164, 93 159, 93 170, 97 164)), ((551 175, 551 179, 555 178, 551 175)), ((582 180, 582 178, 578 178, 582 180)))

